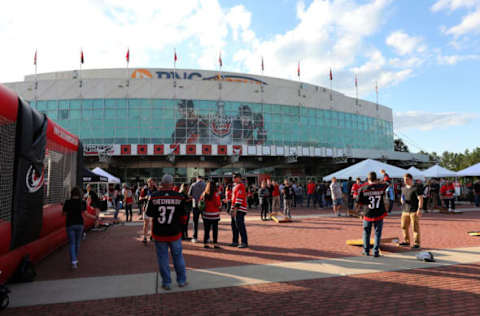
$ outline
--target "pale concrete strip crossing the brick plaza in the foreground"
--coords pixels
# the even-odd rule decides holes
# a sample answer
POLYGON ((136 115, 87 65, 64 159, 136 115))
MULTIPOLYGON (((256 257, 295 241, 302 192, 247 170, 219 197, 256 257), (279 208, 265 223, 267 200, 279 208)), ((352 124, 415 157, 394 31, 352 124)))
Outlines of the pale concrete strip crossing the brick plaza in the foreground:
MULTIPOLYGON (((437 260, 435 263, 416 260, 418 251, 415 251, 381 258, 346 257, 189 270, 187 275, 190 284, 185 288, 173 284, 169 292, 161 289, 161 280, 154 272, 14 284, 10 286, 10 305, 20 307, 77 302, 480 262, 480 247, 432 252, 437 260)), ((172 277, 175 278, 175 273, 172 273, 172 277)))

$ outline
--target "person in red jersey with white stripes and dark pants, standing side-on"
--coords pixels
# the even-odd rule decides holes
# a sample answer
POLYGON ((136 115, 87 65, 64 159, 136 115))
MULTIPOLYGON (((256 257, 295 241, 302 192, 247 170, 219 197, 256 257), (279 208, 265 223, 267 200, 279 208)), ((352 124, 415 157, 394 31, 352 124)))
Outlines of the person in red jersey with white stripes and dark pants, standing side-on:
POLYGON ((232 243, 230 246, 238 248, 248 247, 247 229, 245 227, 245 215, 247 214, 247 194, 245 185, 242 183, 242 176, 236 173, 233 177, 235 186, 232 192, 232 243), (242 243, 238 244, 238 235, 242 243))

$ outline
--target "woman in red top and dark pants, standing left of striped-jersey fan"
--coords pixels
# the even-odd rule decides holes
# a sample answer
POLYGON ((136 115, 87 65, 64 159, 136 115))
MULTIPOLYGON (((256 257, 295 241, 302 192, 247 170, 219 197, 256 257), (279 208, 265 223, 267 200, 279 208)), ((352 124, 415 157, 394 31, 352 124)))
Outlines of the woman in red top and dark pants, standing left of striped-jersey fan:
POLYGON ((220 200, 220 194, 215 190, 215 183, 212 181, 207 182, 205 191, 203 191, 201 200, 205 201, 205 209, 203 215, 203 247, 210 248, 208 245, 208 239, 210 237, 210 229, 213 235, 213 248, 220 249, 217 245, 218 240, 218 222, 220 221, 220 207, 222 202, 220 200))

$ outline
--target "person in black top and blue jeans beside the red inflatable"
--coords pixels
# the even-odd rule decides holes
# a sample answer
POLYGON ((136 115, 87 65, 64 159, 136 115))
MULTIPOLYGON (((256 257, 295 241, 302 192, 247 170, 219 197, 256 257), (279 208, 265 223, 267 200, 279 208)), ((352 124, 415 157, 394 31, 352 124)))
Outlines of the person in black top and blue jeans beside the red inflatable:
MULTIPOLYGON (((66 216, 68 250, 72 262, 72 269, 78 268, 78 249, 83 235, 82 214, 87 209, 85 201, 82 200, 82 190, 74 187, 70 193, 70 199, 63 204, 63 215, 66 216)), ((96 219, 95 216, 86 213, 87 217, 96 219)))

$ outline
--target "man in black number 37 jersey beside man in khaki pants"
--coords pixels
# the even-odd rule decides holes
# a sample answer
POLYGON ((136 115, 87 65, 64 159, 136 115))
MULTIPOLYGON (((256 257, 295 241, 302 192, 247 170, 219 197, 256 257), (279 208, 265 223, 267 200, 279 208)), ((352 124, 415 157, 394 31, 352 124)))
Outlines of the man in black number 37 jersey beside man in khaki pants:
POLYGON ((357 203, 367 206, 367 211, 363 216, 363 255, 365 256, 370 255, 372 226, 375 227, 373 255, 374 257, 380 256, 383 218, 387 216, 384 203, 387 187, 388 185, 385 183, 378 183, 377 174, 372 171, 368 174, 368 185, 363 186, 357 196, 357 203))

